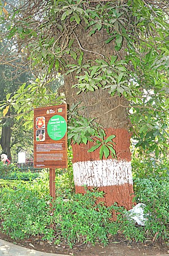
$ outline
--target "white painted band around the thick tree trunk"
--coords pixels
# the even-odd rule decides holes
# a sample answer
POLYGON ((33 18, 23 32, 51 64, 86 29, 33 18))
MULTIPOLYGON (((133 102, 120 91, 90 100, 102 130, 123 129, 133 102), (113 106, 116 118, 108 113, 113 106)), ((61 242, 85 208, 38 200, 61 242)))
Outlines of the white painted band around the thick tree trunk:
POLYGON ((113 186, 132 184, 131 162, 126 160, 95 160, 73 163, 77 186, 113 186))

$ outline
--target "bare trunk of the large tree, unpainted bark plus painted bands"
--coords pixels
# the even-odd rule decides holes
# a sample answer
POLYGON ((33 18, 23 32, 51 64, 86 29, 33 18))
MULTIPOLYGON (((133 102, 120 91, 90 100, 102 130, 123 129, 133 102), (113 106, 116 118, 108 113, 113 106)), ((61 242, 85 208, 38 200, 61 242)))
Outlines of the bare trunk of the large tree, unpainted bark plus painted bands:
MULTIPOLYGON (((104 44, 104 31, 90 37, 82 27, 81 31, 75 31, 75 33, 83 48, 107 57, 117 55, 113 44, 104 44)), ((118 56, 123 54, 123 50, 118 52, 118 56)), ((100 58, 100 55, 84 51, 85 60, 96 58, 100 58)), ((106 137, 112 134, 116 136, 114 142, 117 155, 117 159, 109 157, 101 160, 99 159, 99 149, 93 153, 87 153, 92 146, 91 143, 73 145, 75 191, 84 193, 83 186, 97 187, 105 192, 106 205, 110 206, 117 202, 119 206, 131 209, 134 191, 131 172, 130 124, 127 116, 128 102, 117 95, 111 97, 107 90, 101 89, 77 95, 72 89, 72 85, 75 83, 77 81, 74 75, 65 76, 64 92, 68 107, 77 102, 81 102, 80 106, 86 106, 87 108, 81 114, 86 118, 97 117, 96 122, 103 125, 106 137)))

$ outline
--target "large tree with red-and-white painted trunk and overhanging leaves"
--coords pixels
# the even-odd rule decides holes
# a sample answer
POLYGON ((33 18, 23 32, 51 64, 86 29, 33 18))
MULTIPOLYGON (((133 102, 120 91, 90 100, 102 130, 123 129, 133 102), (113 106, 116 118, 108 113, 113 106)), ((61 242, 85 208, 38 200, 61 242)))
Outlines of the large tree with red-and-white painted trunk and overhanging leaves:
POLYGON ((167 146, 167 3, 27 1, 6 28, 45 80, 65 74, 76 191, 96 186, 131 208, 131 131, 157 156, 167 146))

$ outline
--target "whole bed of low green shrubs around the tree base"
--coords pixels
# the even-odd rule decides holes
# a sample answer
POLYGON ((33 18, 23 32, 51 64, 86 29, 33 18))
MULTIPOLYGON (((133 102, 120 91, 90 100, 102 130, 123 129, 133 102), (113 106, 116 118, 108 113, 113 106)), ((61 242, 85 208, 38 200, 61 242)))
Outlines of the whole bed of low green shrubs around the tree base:
MULTIPOLYGON (((71 153, 70 153, 71 154, 71 153)), ((71 158, 71 157, 70 157, 71 158)), ((121 234, 128 240, 168 240, 168 162, 158 163, 152 170, 150 162, 140 165, 133 160, 135 202, 144 203, 145 226, 136 225, 127 218, 127 210, 113 205, 105 207, 101 202, 103 192, 86 190, 86 194, 74 194, 68 176, 57 170, 56 200, 49 202, 48 171, 37 179, 28 181, 0 180, 0 218, 3 232, 21 239, 41 235, 44 240, 64 242, 70 247, 90 242, 108 244, 109 235, 121 234), (136 164, 135 164, 136 163, 136 164), (143 167, 147 168, 143 177, 143 167), (160 166, 162 171, 160 172, 160 166), (113 216, 112 216, 113 213, 113 216), (117 215, 117 220, 112 217, 117 215)))

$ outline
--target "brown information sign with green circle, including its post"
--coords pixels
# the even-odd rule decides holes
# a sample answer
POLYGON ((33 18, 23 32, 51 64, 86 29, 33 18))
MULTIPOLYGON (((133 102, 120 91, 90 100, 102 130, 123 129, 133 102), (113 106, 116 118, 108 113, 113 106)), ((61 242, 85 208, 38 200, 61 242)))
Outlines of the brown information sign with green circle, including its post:
POLYGON ((50 195, 55 198, 55 168, 67 168, 67 106, 34 109, 34 168, 50 168, 50 195))

